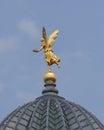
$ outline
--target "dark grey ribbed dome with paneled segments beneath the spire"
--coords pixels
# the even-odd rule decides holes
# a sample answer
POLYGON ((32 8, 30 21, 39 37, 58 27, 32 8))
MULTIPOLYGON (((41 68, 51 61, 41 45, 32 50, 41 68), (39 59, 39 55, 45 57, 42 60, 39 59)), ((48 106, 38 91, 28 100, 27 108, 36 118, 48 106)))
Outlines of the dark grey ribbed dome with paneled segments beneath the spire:
POLYGON ((13 111, 0 130, 104 130, 104 126, 83 107, 47 94, 13 111))

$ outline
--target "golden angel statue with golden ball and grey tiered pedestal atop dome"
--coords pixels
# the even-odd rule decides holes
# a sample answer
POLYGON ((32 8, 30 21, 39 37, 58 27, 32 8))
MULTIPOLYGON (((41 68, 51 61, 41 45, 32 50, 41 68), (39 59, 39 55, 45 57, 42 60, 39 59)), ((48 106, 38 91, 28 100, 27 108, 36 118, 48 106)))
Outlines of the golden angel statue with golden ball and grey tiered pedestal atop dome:
POLYGON ((33 52, 40 52, 44 50, 45 60, 48 65, 48 72, 44 74, 44 87, 45 89, 42 91, 43 94, 52 93, 58 94, 58 90, 56 87, 56 75, 51 69, 51 65, 56 64, 58 68, 60 67, 60 58, 55 55, 52 50, 52 46, 55 43, 55 39, 57 38, 59 30, 55 30, 47 39, 46 29, 43 27, 42 30, 42 38, 41 38, 41 46, 39 50, 33 50, 33 52))

